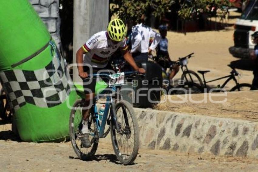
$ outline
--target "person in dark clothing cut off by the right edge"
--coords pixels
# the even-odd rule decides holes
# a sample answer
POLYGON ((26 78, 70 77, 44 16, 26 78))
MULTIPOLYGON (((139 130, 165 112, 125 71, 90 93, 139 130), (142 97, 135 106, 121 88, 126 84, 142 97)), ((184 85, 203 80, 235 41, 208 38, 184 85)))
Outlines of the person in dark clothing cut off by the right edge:
POLYGON ((252 34, 254 50, 251 52, 251 59, 255 61, 253 68, 253 82, 251 90, 258 90, 258 31, 252 34))

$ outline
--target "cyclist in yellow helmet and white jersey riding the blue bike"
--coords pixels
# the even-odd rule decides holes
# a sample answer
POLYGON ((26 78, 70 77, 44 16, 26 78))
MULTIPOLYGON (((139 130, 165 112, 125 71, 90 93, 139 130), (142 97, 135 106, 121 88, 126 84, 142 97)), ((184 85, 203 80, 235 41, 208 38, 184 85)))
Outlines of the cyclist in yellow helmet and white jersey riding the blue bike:
POLYGON ((83 128, 82 133, 82 146, 90 147, 88 120, 90 103, 95 96, 95 85, 97 78, 89 78, 88 75, 97 73, 99 70, 103 70, 108 63, 110 56, 118 49, 123 52, 124 59, 132 66, 135 71, 139 73, 145 73, 143 68, 139 68, 131 54, 127 50, 126 40, 126 28, 122 20, 111 20, 107 26, 107 30, 94 34, 76 53, 76 63, 79 72, 79 76, 83 79, 83 87, 85 93, 85 107, 87 108, 83 112, 83 128), (83 58, 83 54, 85 54, 83 58), (87 66, 85 66, 87 64, 87 66), (90 70, 90 67, 92 70, 90 70), (90 89, 90 91, 88 91, 90 89))

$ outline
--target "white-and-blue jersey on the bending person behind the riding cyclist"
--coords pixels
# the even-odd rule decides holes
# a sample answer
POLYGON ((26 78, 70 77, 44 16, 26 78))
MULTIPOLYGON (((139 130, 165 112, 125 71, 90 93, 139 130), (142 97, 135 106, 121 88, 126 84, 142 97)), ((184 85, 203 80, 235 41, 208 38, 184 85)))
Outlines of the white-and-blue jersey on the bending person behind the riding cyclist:
POLYGON ((141 53, 147 53, 148 49, 154 50, 159 41, 160 41, 160 34, 153 31, 150 27, 145 26, 144 24, 138 24, 136 26, 132 27, 132 37, 131 37, 131 43, 132 48, 131 52, 141 52, 141 53), (151 43, 151 46, 149 46, 150 38, 153 38, 153 42, 151 43))

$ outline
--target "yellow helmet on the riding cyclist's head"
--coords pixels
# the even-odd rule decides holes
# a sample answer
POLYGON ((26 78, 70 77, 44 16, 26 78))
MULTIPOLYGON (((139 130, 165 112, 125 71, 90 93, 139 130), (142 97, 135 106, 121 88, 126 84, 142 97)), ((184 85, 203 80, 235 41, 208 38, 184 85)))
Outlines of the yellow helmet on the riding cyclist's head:
POLYGON ((111 40, 122 41, 126 36, 124 22, 120 19, 111 20, 107 26, 107 32, 111 40))

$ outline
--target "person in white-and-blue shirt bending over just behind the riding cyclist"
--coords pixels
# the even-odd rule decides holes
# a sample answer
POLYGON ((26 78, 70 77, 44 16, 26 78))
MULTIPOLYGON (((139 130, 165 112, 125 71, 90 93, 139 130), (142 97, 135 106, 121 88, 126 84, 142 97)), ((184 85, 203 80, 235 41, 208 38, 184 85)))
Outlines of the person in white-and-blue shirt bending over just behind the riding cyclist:
POLYGON ((144 25, 144 22, 133 26, 131 33, 131 53, 134 60, 147 61, 148 53, 151 53, 158 46, 160 39, 160 34, 144 25), (153 41, 149 46, 150 38, 153 38, 153 41))

